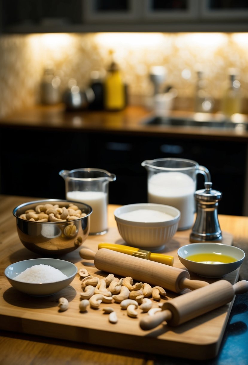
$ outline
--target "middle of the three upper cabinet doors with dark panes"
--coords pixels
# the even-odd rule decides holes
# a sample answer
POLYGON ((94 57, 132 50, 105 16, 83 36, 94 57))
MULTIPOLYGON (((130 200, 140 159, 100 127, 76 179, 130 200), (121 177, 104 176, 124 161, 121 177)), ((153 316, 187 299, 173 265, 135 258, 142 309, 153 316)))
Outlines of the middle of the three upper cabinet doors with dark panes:
POLYGON ((199 14, 197 0, 144 0, 143 19, 152 20, 187 20, 196 19, 199 14))

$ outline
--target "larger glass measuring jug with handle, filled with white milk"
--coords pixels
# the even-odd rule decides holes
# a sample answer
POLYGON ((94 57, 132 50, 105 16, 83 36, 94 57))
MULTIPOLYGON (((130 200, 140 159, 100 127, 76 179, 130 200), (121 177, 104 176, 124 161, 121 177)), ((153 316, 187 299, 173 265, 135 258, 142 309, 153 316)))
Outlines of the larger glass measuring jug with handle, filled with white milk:
POLYGON ((192 160, 157 158, 145 160, 141 166, 147 170, 148 203, 171 205, 181 212, 178 229, 191 228, 195 214, 196 177, 203 174, 211 181, 207 168, 192 160))

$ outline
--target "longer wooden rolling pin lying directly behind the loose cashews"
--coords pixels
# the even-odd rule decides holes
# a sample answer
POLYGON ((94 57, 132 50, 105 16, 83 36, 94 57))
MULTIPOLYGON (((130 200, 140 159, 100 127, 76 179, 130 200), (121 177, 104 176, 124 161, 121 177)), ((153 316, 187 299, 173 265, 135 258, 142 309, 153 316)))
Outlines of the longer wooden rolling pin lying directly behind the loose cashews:
POLYGON ((176 293, 186 288, 194 290, 209 285, 206 281, 191 280, 186 270, 109 249, 100 249, 95 253, 83 248, 79 254, 86 260, 93 259, 94 265, 99 270, 121 277, 131 276, 135 280, 158 285, 176 293))

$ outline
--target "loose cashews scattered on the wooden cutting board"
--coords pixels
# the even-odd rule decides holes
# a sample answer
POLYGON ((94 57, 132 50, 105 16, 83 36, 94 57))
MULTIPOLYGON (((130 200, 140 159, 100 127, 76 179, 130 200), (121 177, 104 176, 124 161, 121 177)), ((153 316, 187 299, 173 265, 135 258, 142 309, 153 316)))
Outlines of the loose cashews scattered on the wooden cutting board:
MULTIPOLYGON (((127 315, 137 318, 137 308, 148 315, 153 315, 157 311, 161 311, 161 306, 153 308, 154 302, 159 302, 161 297, 166 296, 166 292, 162 287, 152 287, 148 283, 133 283, 130 276, 125 278, 117 278, 114 274, 109 274, 105 278, 99 279, 92 276, 86 269, 79 270, 79 276, 82 278, 80 294, 79 310, 86 312, 87 307, 98 309, 101 303, 110 304, 113 301, 120 303, 122 310, 127 311, 127 315), (151 297, 151 299, 149 298, 151 297)), ((69 303, 67 299, 59 299, 60 311, 67 310, 69 303)), ((117 313, 111 306, 103 308, 103 312, 108 314, 110 323, 117 323, 117 313)))

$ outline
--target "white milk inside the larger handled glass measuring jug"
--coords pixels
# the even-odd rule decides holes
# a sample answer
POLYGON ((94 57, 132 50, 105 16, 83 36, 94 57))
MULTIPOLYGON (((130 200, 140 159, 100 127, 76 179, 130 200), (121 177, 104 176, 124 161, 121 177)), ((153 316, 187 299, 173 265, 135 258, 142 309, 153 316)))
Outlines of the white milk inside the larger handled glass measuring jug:
POLYGON ((178 229, 190 228, 194 220, 196 186, 182 172, 159 172, 148 180, 148 202, 171 205, 181 212, 178 229))

